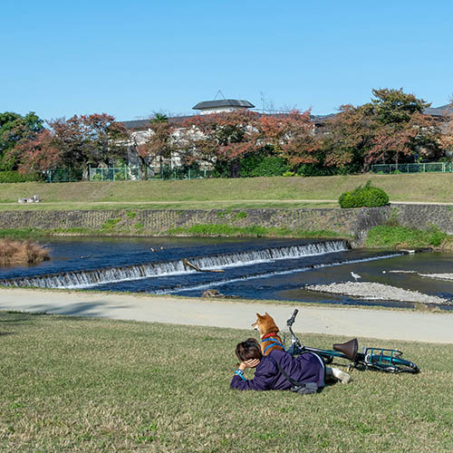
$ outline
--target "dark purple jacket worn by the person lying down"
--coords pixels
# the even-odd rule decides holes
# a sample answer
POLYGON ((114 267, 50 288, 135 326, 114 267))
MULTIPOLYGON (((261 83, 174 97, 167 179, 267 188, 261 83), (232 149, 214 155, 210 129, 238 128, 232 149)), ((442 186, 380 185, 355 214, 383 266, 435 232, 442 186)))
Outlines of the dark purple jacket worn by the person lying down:
POLYGON ((321 357, 306 352, 294 358, 288 352, 274 350, 261 358, 254 379, 244 381, 235 374, 230 389, 288 390, 293 384, 278 370, 277 362, 294 381, 316 382, 318 389, 324 387, 325 365, 321 357))

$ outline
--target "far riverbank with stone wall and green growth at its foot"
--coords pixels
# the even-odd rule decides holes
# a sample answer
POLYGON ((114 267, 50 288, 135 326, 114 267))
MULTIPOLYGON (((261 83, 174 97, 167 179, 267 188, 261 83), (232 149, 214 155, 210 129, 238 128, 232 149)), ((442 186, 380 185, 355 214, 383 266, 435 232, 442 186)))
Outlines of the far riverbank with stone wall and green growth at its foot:
POLYGON ((453 249, 446 205, 266 209, 0 211, 0 237, 339 238, 352 247, 453 249))

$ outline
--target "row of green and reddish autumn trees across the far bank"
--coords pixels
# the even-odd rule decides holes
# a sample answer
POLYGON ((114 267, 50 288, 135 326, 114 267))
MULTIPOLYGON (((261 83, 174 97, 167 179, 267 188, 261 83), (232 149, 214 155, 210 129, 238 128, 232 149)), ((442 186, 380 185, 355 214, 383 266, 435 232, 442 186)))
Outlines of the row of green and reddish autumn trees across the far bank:
POLYGON ((236 110, 178 122, 157 113, 138 134, 106 113, 44 123, 34 112, 0 113, 0 171, 40 173, 127 160, 135 149, 142 171, 169 160, 179 167, 213 169, 218 177, 368 171, 372 164, 450 159, 453 116, 426 115, 429 103, 402 89, 372 90, 361 106, 342 105, 323 123, 311 111, 260 114, 236 110))

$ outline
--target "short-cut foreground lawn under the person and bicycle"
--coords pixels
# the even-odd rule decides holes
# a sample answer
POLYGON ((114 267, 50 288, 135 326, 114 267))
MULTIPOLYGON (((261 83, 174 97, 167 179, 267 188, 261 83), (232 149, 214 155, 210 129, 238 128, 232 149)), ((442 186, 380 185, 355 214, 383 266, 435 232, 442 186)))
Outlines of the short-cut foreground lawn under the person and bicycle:
POLYGON ((236 342, 253 335, 0 313, 0 450, 453 450, 453 345, 379 342, 419 375, 353 371, 307 396, 229 390, 236 342))

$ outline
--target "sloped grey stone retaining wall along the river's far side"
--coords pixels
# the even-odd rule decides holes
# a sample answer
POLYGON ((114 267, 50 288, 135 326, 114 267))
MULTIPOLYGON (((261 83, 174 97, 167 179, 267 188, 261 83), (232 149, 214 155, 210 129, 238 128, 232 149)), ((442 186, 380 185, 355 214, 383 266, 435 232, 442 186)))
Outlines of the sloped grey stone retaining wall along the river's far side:
MULTIPOLYGON (((158 235, 200 224, 330 230, 359 242, 373 226, 390 221, 420 229, 435 225, 453 234, 453 208, 440 205, 391 205, 361 209, 211 209, 0 211, 0 228, 90 230, 100 234, 158 235)), ((77 232, 74 230, 74 232, 77 232)))

